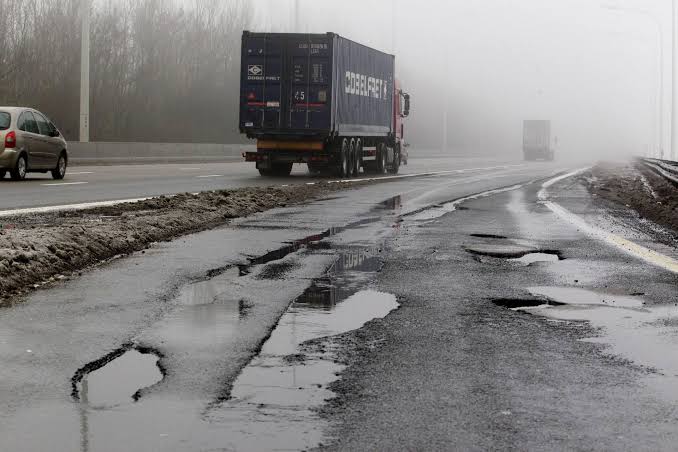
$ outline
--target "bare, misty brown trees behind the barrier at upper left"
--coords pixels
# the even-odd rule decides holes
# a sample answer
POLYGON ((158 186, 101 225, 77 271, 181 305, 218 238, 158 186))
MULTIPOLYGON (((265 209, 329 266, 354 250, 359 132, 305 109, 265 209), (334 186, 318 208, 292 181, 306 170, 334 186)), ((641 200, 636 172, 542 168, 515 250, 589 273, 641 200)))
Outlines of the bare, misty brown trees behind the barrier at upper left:
MULTIPOLYGON (((0 105, 80 117, 82 0, 0 0, 0 105)), ((247 0, 100 0, 91 11, 92 141, 234 142, 247 0)))

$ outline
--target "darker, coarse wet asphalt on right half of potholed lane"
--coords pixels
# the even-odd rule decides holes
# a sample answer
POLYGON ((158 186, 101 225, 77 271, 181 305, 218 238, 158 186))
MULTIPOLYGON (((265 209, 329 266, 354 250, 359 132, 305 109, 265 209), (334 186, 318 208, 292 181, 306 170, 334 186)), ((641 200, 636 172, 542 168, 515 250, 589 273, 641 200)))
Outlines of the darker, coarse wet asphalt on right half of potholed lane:
MULTIPOLYGON (((510 308, 546 305, 535 292, 565 303, 593 303, 594 293, 618 303, 603 316, 634 319, 649 309, 638 306, 678 302, 676 275, 563 223, 536 202, 539 188, 401 223, 376 285, 401 307, 344 338, 348 368, 323 408, 334 425, 327 449, 675 450, 675 366, 628 359, 638 350, 624 330, 605 337, 587 321, 593 310, 541 317, 510 308), (511 259, 525 249, 558 258, 511 259)), ((561 198, 582 212, 594 206, 581 191, 561 198)), ((550 309, 542 311, 562 308, 550 309)), ((628 334, 639 323, 629 321, 628 334)), ((675 353, 666 336, 675 328, 647 326, 634 340, 655 334, 663 347, 650 342, 657 349, 641 356, 675 353)))

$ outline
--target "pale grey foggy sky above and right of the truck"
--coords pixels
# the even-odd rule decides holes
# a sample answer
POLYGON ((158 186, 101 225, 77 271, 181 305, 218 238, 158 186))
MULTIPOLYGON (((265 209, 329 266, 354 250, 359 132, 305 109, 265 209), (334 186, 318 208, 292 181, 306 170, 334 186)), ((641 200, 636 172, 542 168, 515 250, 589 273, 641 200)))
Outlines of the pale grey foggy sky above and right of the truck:
MULTIPOLYGON (((292 30, 294 0, 255 1, 253 30, 292 30)), ((660 25, 670 108, 670 0, 299 4, 298 31, 333 31, 396 55, 413 97, 413 146, 441 145, 445 107, 452 152, 518 153, 523 119, 551 119, 563 153, 655 146, 660 25)))

